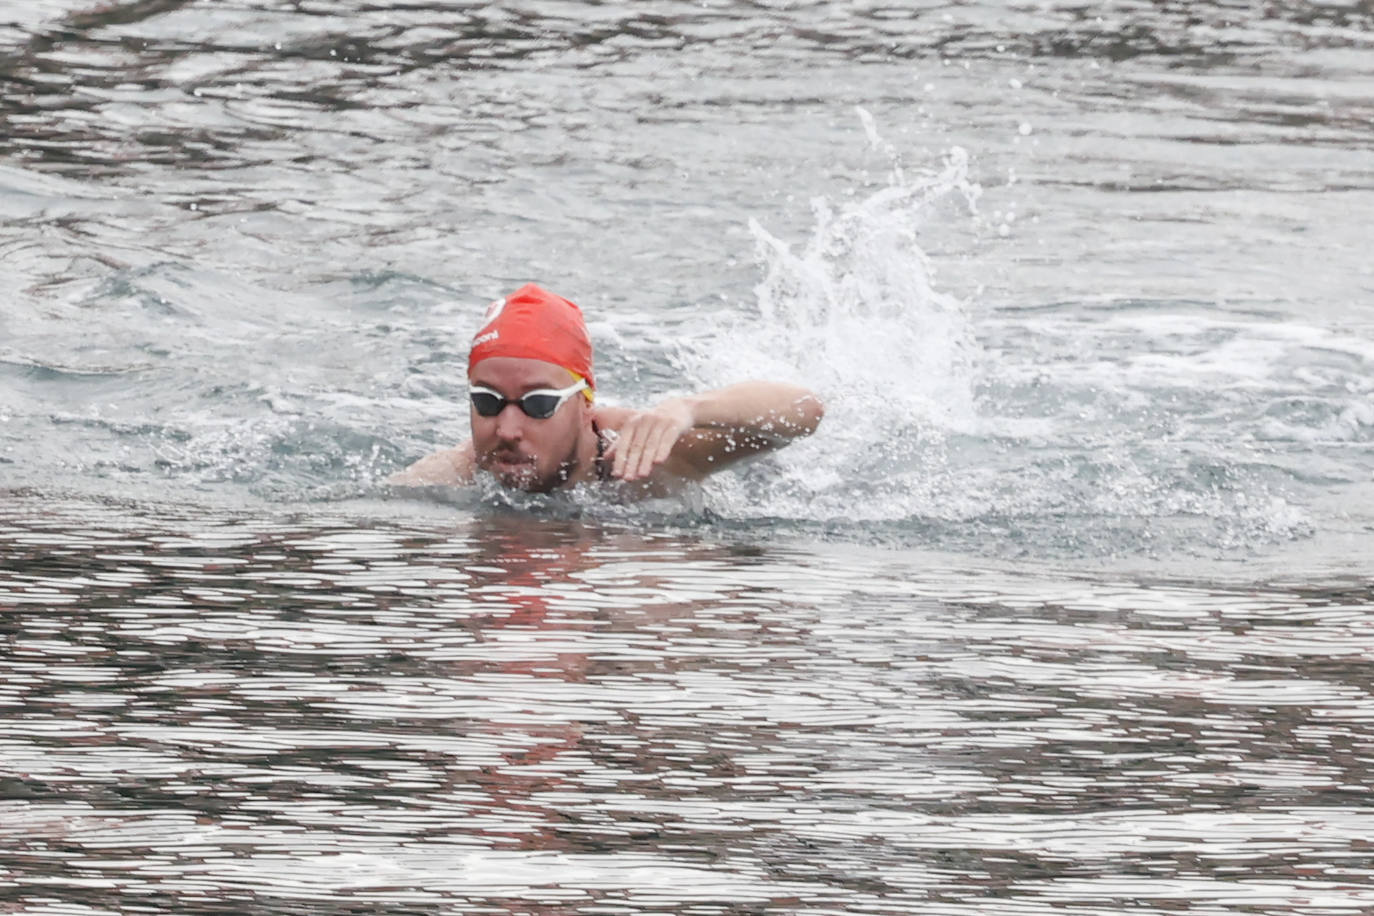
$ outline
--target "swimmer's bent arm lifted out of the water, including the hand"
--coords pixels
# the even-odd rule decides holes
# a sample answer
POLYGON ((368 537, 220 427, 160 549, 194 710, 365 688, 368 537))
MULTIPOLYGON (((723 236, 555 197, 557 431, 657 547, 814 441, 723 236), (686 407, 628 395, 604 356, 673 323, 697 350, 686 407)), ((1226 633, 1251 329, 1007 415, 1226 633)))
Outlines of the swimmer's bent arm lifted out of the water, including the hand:
POLYGON ((811 435, 826 408, 812 391, 782 382, 741 382, 631 412, 607 450, 611 475, 636 481, 658 468, 701 479, 811 435))

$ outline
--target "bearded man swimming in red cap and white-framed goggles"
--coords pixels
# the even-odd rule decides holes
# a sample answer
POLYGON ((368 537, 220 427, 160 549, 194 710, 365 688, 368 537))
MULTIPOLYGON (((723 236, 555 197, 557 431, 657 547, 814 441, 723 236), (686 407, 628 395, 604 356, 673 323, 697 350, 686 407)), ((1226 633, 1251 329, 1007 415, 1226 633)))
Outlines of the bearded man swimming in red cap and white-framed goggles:
POLYGON ((393 474, 396 486, 464 485, 478 471, 547 493, 625 481, 665 496, 816 430, 804 387, 742 382, 635 411, 599 407, 581 310, 533 283, 486 309, 467 357, 473 438, 393 474))

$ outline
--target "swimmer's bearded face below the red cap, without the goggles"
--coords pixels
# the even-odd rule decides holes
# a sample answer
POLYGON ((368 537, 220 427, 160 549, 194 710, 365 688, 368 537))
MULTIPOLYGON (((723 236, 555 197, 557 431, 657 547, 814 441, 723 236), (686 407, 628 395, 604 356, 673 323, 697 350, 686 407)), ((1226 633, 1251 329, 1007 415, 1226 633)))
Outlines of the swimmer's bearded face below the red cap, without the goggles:
POLYGON ((515 401, 537 389, 566 389, 576 376, 543 360, 493 356, 473 367, 467 380, 510 401, 496 416, 470 409, 477 466, 502 486, 518 490, 547 493, 566 482, 577 467, 583 437, 589 434, 587 398, 570 397, 543 420, 526 416, 515 401))

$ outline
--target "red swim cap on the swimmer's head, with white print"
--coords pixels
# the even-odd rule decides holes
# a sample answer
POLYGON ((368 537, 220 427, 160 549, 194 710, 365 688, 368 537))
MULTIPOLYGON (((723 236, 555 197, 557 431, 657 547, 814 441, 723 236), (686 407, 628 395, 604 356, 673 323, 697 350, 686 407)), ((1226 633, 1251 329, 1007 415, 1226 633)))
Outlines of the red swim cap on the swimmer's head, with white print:
POLYGON ((543 360, 592 379, 592 339, 583 312, 561 295, 526 283, 486 306, 486 320, 473 336, 467 371, 493 356, 543 360))

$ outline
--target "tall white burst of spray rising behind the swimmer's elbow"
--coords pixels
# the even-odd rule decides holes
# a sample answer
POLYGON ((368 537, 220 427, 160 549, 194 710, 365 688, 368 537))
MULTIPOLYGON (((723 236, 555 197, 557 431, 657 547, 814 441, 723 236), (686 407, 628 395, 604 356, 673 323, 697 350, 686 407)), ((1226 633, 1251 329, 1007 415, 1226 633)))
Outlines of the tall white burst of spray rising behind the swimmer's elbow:
POLYGON ((703 385, 757 376, 808 385, 826 401, 829 435, 889 433, 857 433, 859 448, 916 426, 966 426, 978 347, 965 305, 937 288, 918 233, 937 202, 971 206, 967 169, 966 154, 952 150, 938 170, 912 180, 894 168, 866 198, 816 198, 800 251, 750 221, 764 273, 757 299, 716 316, 712 339, 682 352, 690 375, 703 385))

